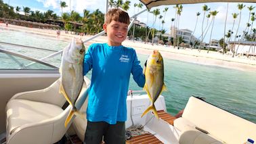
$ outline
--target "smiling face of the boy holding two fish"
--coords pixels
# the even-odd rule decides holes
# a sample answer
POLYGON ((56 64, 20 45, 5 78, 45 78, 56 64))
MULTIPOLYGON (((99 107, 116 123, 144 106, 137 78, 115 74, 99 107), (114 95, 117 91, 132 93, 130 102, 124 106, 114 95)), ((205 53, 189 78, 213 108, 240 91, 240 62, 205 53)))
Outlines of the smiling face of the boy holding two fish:
POLYGON ((128 24, 112 20, 110 24, 103 24, 108 36, 108 45, 119 46, 127 37, 128 24))

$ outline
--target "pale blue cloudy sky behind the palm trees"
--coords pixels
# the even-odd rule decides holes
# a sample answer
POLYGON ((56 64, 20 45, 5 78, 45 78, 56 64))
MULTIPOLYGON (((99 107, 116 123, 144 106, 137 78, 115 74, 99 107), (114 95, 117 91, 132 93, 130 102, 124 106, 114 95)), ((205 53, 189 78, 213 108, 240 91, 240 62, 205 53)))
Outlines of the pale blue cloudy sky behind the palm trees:
MULTIPOLYGON (((70 8, 74 11, 79 12, 81 16, 83 16, 83 9, 87 9, 89 11, 94 11, 95 9, 100 9, 103 13, 106 11, 106 0, 72 0, 71 3, 69 0, 62 0, 66 2, 66 5, 68 7, 65 7, 63 9, 64 12, 70 12, 70 8), (71 5, 71 7, 69 6, 71 5)), ((127 11, 129 16, 133 16, 138 11, 142 11, 143 9, 146 9, 145 6, 142 7, 142 9, 138 9, 137 7, 134 8, 134 3, 140 3, 138 0, 130 0, 130 9, 127 11)), ((19 6, 19 7, 30 7, 31 10, 39 10, 39 11, 47 11, 48 9, 53 10, 58 16, 60 16, 61 8, 60 8, 60 0, 3 0, 4 3, 9 3, 9 5, 12 5, 13 7, 19 6)), ((198 3, 198 4, 186 4, 183 5, 183 11, 179 18, 179 29, 189 29, 194 30, 196 26, 196 13, 200 12, 200 16, 198 17, 198 24, 196 26, 196 30, 194 32, 195 37, 200 37, 200 34, 202 32, 202 20, 203 20, 203 11, 202 6, 207 5, 211 8, 210 11, 219 11, 217 16, 215 16, 215 24, 213 26, 213 33, 211 39, 221 39, 224 35, 224 27, 225 27, 225 18, 226 18, 226 11, 228 6, 228 18, 227 18, 227 25, 226 25, 226 32, 228 30, 232 29, 232 24, 234 22, 234 19, 232 17, 232 13, 240 13, 238 10, 238 3, 198 3)), ((246 28, 246 24, 249 20, 249 10, 247 7, 253 5, 253 7, 256 7, 256 3, 244 3, 246 5, 244 9, 242 9, 241 14, 241 20, 240 20, 240 27, 238 29, 238 34, 242 34, 242 30, 246 28)), ((161 15, 164 16, 163 10, 165 7, 168 7, 168 11, 165 14, 165 24, 163 28, 167 30, 167 33, 170 32, 171 28, 171 18, 175 18, 175 9, 173 8, 175 5, 163 5, 159 7, 154 7, 150 9, 151 11, 153 9, 159 8, 161 11, 161 15)), ((22 9, 21 9, 22 10, 22 9)), ((256 13, 256 8, 253 9, 252 12, 256 13)), ((138 16, 137 20, 140 20, 140 22, 144 22, 148 26, 152 27, 152 24, 154 22, 154 16, 152 14, 148 14, 146 11, 138 16)), ((235 24, 234 24, 234 34, 236 33, 236 30, 238 28, 238 18, 236 18, 235 24)), ((211 22, 211 18, 209 19, 209 23, 211 22)), ((251 23, 251 21, 250 21, 251 23)), ((207 19, 205 18, 204 26, 207 25, 207 19)), ((162 28, 162 24, 160 20, 156 19, 155 28, 160 30, 162 28)), ((253 28, 256 28, 256 24, 253 24, 253 28)), ((209 43, 211 28, 209 28, 209 32, 207 32, 207 36, 205 37, 205 42, 209 43)))

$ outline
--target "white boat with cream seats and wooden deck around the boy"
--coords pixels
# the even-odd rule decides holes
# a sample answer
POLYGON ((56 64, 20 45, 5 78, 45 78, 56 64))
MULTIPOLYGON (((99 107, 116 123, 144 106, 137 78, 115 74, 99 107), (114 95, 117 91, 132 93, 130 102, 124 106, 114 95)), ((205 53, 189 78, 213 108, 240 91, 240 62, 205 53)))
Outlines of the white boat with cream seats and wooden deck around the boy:
MULTIPOLYGON (((225 1, 241 2, 242 0, 225 1)), ((151 8, 167 4, 223 1, 141 0, 141 2, 151 8)), ((242 2, 255 3, 256 1, 242 2)), ((136 16, 132 17, 133 22, 136 16)), ((94 37, 103 33, 100 32, 94 37)), ((16 47, 20 46, 16 45, 16 47)), ((58 51, 49 57, 60 55, 61 52, 58 51)), ((87 120, 77 116, 67 127, 64 126, 71 107, 65 104, 66 99, 58 91, 60 87, 58 67, 44 62, 43 59, 27 57, 1 47, 0 58, 1 62, 5 63, 5 67, 1 66, 0 70, 1 144, 82 143, 87 120)), ((89 78, 84 77, 84 80, 82 91, 86 91, 90 84, 89 78)), ((151 112, 141 117, 149 105, 150 100, 144 91, 127 93, 126 143, 240 144, 247 139, 256 141, 255 123, 222 110, 202 97, 191 96, 185 109, 180 114, 171 116, 167 113, 165 97, 161 95, 154 103, 159 119, 155 118, 151 112)), ((81 110, 85 111, 86 107, 87 101, 81 110)))

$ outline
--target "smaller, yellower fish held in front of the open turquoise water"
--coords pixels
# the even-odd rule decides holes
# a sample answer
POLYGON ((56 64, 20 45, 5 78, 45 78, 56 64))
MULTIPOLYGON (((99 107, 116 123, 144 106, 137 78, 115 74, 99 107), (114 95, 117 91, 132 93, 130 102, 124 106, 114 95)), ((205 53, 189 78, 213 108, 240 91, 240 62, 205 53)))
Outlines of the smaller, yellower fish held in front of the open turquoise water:
POLYGON ((142 116, 144 116, 150 110, 152 110, 156 118, 158 118, 156 107, 154 107, 154 102, 162 93, 162 91, 165 91, 166 89, 164 84, 163 57, 161 53, 154 50, 153 53, 150 54, 150 56, 147 59, 144 74, 146 79, 144 90, 146 91, 146 93, 148 93, 148 97, 150 98, 152 104, 145 110, 142 116))

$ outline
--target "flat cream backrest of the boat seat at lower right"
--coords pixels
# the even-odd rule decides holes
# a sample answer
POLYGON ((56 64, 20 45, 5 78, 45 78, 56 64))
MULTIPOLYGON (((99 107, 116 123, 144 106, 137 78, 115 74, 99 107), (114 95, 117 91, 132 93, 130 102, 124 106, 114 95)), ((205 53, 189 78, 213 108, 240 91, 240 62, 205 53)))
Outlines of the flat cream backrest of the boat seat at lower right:
POLYGON ((226 143, 240 144, 248 138, 256 140, 256 124, 196 97, 190 97, 182 118, 226 143))

